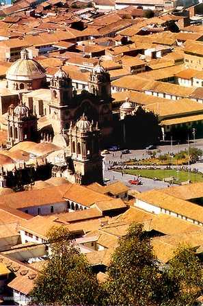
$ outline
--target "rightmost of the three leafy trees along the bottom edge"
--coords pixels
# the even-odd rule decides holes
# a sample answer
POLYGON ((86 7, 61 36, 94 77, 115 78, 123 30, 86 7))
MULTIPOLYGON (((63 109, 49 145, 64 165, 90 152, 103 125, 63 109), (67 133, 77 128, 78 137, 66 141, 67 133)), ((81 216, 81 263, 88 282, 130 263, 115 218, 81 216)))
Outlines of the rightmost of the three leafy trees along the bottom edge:
POLYGON ((159 283, 161 306, 192 306, 202 292, 200 260, 189 246, 179 246, 159 283), (161 290, 160 290, 161 289, 161 290))

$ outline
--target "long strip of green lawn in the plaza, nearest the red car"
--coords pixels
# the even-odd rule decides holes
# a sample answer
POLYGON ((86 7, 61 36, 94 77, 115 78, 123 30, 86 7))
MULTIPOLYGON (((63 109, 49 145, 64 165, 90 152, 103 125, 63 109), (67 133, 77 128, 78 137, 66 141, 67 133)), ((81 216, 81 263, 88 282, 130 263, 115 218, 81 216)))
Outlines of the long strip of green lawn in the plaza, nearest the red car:
POLYGON ((141 177, 147 177, 149 179, 157 179, 163 180, 167 177, 174 177, 177 181, 188 181, 189 179, 193 183, 198 183, 199 181, 203 181, 203 175, 200 173, 189 173, 183 170, 176 171, 175 169, 164 170, 164 169, 128 169, 124 170, 124 173, 128 173, 129 175, 140 175, 141 177))

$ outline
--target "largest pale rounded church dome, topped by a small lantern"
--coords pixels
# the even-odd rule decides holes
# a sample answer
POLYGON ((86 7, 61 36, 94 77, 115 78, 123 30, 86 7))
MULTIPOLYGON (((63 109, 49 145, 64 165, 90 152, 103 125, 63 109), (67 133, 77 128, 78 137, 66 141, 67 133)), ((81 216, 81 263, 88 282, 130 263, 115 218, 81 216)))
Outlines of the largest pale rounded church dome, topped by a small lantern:
POLYGON ((42 79, 46 77, 44 68, 36 62, 29 59, 28 51, 21 51, 21 58, 8 68, 6 78, 15 81, 26 81, 32 79, 42 79))

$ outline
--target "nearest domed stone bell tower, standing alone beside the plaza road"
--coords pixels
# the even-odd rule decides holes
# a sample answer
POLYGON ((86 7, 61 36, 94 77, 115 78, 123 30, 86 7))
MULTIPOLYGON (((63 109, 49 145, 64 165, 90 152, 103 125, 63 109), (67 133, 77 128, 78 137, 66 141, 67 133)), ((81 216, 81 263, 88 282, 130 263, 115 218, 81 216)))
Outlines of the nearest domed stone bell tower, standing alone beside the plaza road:
POLYGON ((87 185, 103 183, 103 157, 99 151, 100 129, 90 123, 85 114, 68 130, 70 156, 72 157, 75 183, 87 185))

